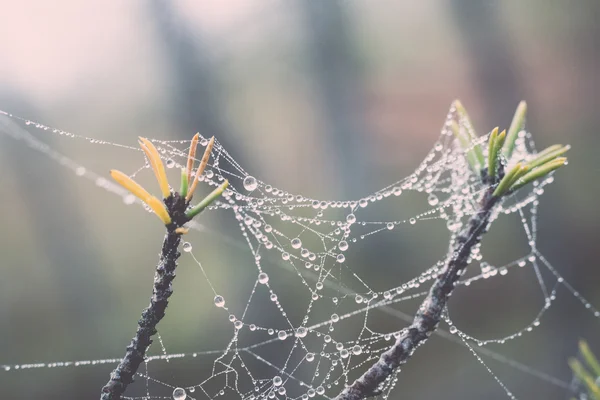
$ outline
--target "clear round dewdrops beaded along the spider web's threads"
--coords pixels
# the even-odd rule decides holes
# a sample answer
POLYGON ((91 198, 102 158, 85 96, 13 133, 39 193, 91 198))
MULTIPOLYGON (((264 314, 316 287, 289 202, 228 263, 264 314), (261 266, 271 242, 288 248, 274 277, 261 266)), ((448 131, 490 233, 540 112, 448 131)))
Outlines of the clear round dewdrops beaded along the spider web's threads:
MULTIPOLYGON (((6 115, 12 116, 9 114, 6 115)), ((376 291, 369 287, 367 279, 363 279, 363 277, 359 276, 353 270, 351 259, 347 257, 348 250, 354 243, 360 240, 376 237, 378 234, 384 234, 398 227, 410 229, 417 222, 429 220, 441 220, 444 222, 451 236, 452 244, 466 220, 476 212, 482 186, 479 177, 475 176, 469 169, 465 161, 464 150, 457 147, 454 143, 449 130, 449 123, 454 117, 454 110, 451 110, 447 117, 447 122, 442 129, 440 139, 412 174, 388 187, 357 200, 318 200, 303 195, 291 194, 285 190, 272 187, 246 173, 226 150, 217 144, 213 151, 212 163, 209 164, 209 168, 206 169, 199 179, 210 186, 217 186, 224 179, 229 179, 231 182, 230 188, 223 193, 222 199, 211 205, 209 210, 218 209, 233 212, 238 221, 243 240, 254 256, 257 268, 256 281, 252 282, 254 288, 245 304, 244 312, 239 317, 230 313, 230 308, 237 309, 239 307, 227 304, 224 296, 219 294, 219 288, 213 285, 210 271, 204 270, 200 262, 198 262, 198 265, 202 268, 204 276, 213 290, 214 305, 226 312, 228 320, 233 325, 231 341, 227 348, 220 352, 214 363, 215 365, 217 363, 228 365, 229 368, 236 370, 236 375, 246 374, 251 377, 253 386, 250 388, 238 387, 236 379, 236 384, 228 384, 225 388, 217 392, 217 394, 209 394, 204 389, 204 383, 218 375, 214 372, 214 368, 213 376, 199 385, 186 388, 174 387, 145 375, 147 381, 152 380, 155 383, 172 388, 172 398, 174 400, 191 398, 189 394, 195 393, 197 389, 200 389, 200 391, 210 398, 225 396, 228 393, 226 389, 235 391, 240 398, 247 400, 290 398, 293 397, 289 388, 289 384, 291 383, 301 388, 299 398, 307 400, 315 396, 335 396, 345 385, 350 384, 357 377, 354 371, 361 371, 365 366, 371 365, 383 351, 389 348, 393 340, 402 333, 401 330, 396 332, 376 331, 368 323, 368 311, 392 303, 422 297, 425 294, 423 291, 425 289, 419 288, 438 275, 446 264, 446 259, 451 257, 452 254, 444 254, 442 259, 408 281, 393 285, 383 291, 376 291), (407 219, 384 221, 362 219, 361 210, 378 202, 393 201, 392 199, 398 198, 407 192, 422 193, 426 198, 429 209, 407 219), (343 217, 340 217, 340 215, 343 215, 343 217), (288 318, 283 304, 279 301, 277 285, 272 282, 263 268, 263 258, 266 258, 265 256, 269 253, 277 254, 278 257, 276 258, 279 259, 279 262, 289 266, 288 269, 296 274, 299 284, 306 288, 307 294, 310 296, 309 305, 302 321, 299 323, 291 321, 288 318), (337 276, 337 273, 342 271, 345 272, 345 276, 348 277, 347 279, 354 279, 356 282, 339 282, 335 279, 334 277, 337 276), (337 295, 324 294, 326 286, 335 289, 337 295), (349 291, 345 287, 362 287, 363 289, 349 291), (246 320, 247 310, 256 303, 253 302, 253 297, 260 290, 268 291, 269 299, 276 306, 280 315, 287 321, 289 325, 287 329, 259 326, 253 323, 253 321, 246 320), (344 305, 353 305, 354 310, 345 313, 338 312, 338 308, 342 303, 344 305), (321 321, 314 321, 314 318, 311 319, 311 312, 315 304, 320 309, 331 308, 331 314, 328 319, 321 321), (335 335, 336 325, 340 321, 349 318, 358 319, 359 321, 362 319, 360 335, 351 341, 337 340, 335 335), (238 348, 238 334, 244 329, 250 332, 266 332, 272 338, 266 340, 257 339, 252 344, 238 348), (303 341, 308 336, 319 338, 321 343, 320 348, 309 349, 303 341), (292 339, 294 340, 294 345, 290 350, 290 357, 288 357, 284 365, 275 367, 268 360, 262 359, 253 352, 256 348, 269 346, 270 343, 292 339), (295 371, 300 367, 300 364, 292 365, 290 359, 291 353, 298 350, 304 354, 300 364, 314 366, 310 382, 302 381, 295 376, 295 371), (256 358, 271 368, 275 367, 278 372, 273 377, 265 379, 255 378, 255 373, 248 369, 246 364, 241 361, 241 358, 239 358, 239 366, 234 367, 233 361, 242 352, 256 358)), ((54 133, 68 137, 78 137, 68 132, 52 130, 44 125, 29 121, 26 121, 26 125, 34 125, 39 129, 45 131, 51 130, 54 133)), ((60 155, 47 145, 36 141, 35 138, 23 136, 22 139, 25 139, 30 147, 47 154, 61 165, 72 169, 77 176, 92 179, 96 186, 123 196, 125 204, 138 202, 135 197, 123 192, 105 177, 94 174, 84 166, 60 155)), ((94 144, 112 144, 91 138, 83 139, 89 140, 94 144)), ((483 142, 485 137, 481 140, 483 142)), ((203 138, 200 144, 201 146, 206 146, 207 142, 203 138)), ((165 158, 167 168, 183 167, 187 149, 181 149, 180 147, 182 143, 189 142, 156 140, 154 143, 165 158)), ((526 158, 532 148, 533 143, 530 135, 521 132, 516 146, 517 158, 526 158)), ((134 172, 132 176, 148 168, 149 166, 146 164, 134 172)), ((479 263, 480 273, 474 277, 465 278, 459 283, 460 285, 469 286, 481 280, 504 276, 514 267, 523 268, 528 266, 536 271, 536 277, 544 296, 543 308, 530 324, 518 332, 502 338, 486 340, 474 338, 466 332, 461 331, 452 322, 450 314, 446 313, 444 319, 449 326, 450 333, 459 336, 465 341, 474 342, 481 346, 488 343, 505 343, 507 340, 518 338, 540 325, 541 317, 556 299, 556 291, 560 285, 567 287, 587 309, 590 309, 596 317, 600 317, 600 312, 594 309, 579 293, 574 291, 536 248, 536 216, 539 196, 543 193, 544 186, 551 182, 552 177, 550 176, 542 182, 536 183, 524 196, 507 200, 493 216, 493 219, 505 214, 517 214, 521 217, 521 223, 528 238, 529 254, 525 254, 505 265, 492 266, 484 261, 481 246, 477 246, 472 252, 470 261, 479 263), (549 270, 555 280, 544 280, 539 272, 540 268, 549 270)), ((149 208, 147 210, 150 212, 149 208)), ((194 257, 194 260, 196 260, 193 255, 191 242, 184 242, 182 249, 184 252, 190 253, 194 257)), ((160 340, 160 344, 163 347, 164 354, 162 356, 148 357, 147 362, 155 359, 168 360, 185 356, 185 354, 168 355, 166 354, 162 339, 160 340)), ((196 357, 199 353, 191 354, 193 357, 196 357)), ((114 362, 118 362, 118 359, 23 364, 13 366, 13 369, 95 365, 114 362)), ((11 367, 4 366, 4 369, 10 370, 11 367)), ((397 382, 398 379, 395 376, 390 377, 385 382, 381 388, 384 398, 387 398, 389 391, 397 382)), ((150 398, 151 396, 147 393, 146 397, 150 398)))

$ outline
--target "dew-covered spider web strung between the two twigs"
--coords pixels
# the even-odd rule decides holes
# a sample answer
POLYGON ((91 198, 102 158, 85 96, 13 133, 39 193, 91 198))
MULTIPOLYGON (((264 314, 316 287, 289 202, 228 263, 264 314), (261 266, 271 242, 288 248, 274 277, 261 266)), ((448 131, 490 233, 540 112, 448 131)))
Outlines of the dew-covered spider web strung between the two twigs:
MULTIPOLYGON (((130 151, 131 157, 139 159, 139 168, 129 171, 135 179, 151 176, 150 166, 143 154, 129 144, 107 142, 51 128, 37 122, 1 112, 3 136, 12 137, 35 151, 50 157, 58 164, 73 171, 90 183, 117 196, 128 207, 147 207, 105 174, 95 173, 75 157, 59 153, 44 142, 44 135, 56 135, 67 139, 89 141, 95 146, 119 146, 130 151)), ((359 259, 362 244, 377 241, 398 230, 414 229, 414 225, 437 221, 447 231, 448 249, 452 248, 455 236, 475 213, 483 190, 479 177, 475 176, 465 159, 465 153, 455 143, 449 123, 457 119, 451 109, 443 125, 439 140, 423 162, 407 177, 398 180, 374 193, 353 200, 323 200, 289 193, 263 182, 246 171, 218 141, 214 146, 209 165, 201 177, 202 190, 215 187, 224 179, 230 182, 222 198, 211 205, 197 221, 190 223, 192 232, 184 236, 182 257, 193 260, 201 270, 202 282, 197 301, 211 303, 215 313, 205 324, 227 324, 223 347, 206 349, 202 343, 197 348, 184 352, 171 352, 170 343, 177 342, 176 331, 160 335, 164 329, 159 324, 159 335, 151 347, 144 365, 138 371, 136 382, 127 390, 131 399, 302 399, 335 398, 345 385, 351 384, 366 368, 387 350, 408 326, 412 315, 451 250, 439 254, 438 261, 423 265, 420 272, 401 281, 388 280, 384 288, 370 282, 365 269, 357 268, 364 259, 359 259), (402 215, 402 198, 410 194, 421 196, 422 212, 402 215), (372 219, 368 210, 382 207, 386 203, 398 207, 399 211, 389 218, 372 219), (219 217, 238 226, 237 234, 227 240, 243 246, 250 255, 248 265, 211 265, 205 261, 202 245, 197 243, 194 230, 205 230, 203 219, 206 214, 219 213, 219 217), (227 285, 215 282, 215 271, 219 268, 239 269, 241 286, 233 293, 227 285), (242 279, 243 277, 243 279, 242 279), (408 314, 398 311, 396 304, 407 302, 408 314), (298 311, 301 310, 301 311, 298 311), (384 315, 393 324, 382 324, 384 315), (214 320, 213 320, 214 317, 214 320), (390 329, 390 326, 395 328, 390 329), (177 376, 154 373, 160 364, 168 369, 167 363, 185 363, 186 368, 197 370, 194 380, 179 380, 177 376), (208 367, 210 366, 210 367, 208 367)), ((464 127, 469 129, 469 127, 464 127)), ((3 139, 4 140, 4 139, 3 139)), ((159 149, 168 169, 185 166, 190 141, 152 139, 159 149)), ((484 136, 480 142, 486 143, 484 136)), ((207 137, 202 137, 201 146, 206 146, 207 137)), ((485 147, 485 146, 484 146, 485 147)), ((527 159, 536 152, 532 136, 522 131, 517 140, 515 155, 510 163, 527 159)), ((202 154, 199 149, 198 154, 202 154)), ((118 159, 114 167, 119 168, 118 159)), ((174 171, 170 178, 178 176, 174 171)), ((600 312, 582 297, 559 273, 537 248, 537 211, 545 187, 552 183, 553 176, 524 187, 508 197, 493 215, 494 223, 513 216, 519 223, 527 249, 508 262, 495 264, 485 256, 483 245, 472 253, 468 273, 462 277, 457 291, 468 291, 469 287, 481 285, 493 279, 529 269, 542 297, 542 307, 529 323, 518 330, 499 337, 478 337, 461 329, 452 319, 452 301, 444 313, 444 322, 437 335, 458 342, 482 364, 491 378, 500 386, 500 392, 508 398, 518 394, 510 390, 505 382, 486 364, 494 359, 525 374, 528 379, 538 379, 545 384, 566 389, 569 384, 538 369, 521 364, 489 349, 488 344, 504 344, 517 340, 535 330, 546 312, 555 304, 561 289, 581 302, 593 317, 600 312)), ((177 188, 173 188, 176 190, 177 188)), ((132 211, 134 212, 134 211, 132 211)), ((150 217, 149 218, 153 218, 150 217)), ((157 221, 158 223, 158 221, 157 221)), ((209 233, 210 234, 210 233, 209 233)), ((376 255, 370 258, 376 262, 376 255)), ((394 268, 401 268, 402 261, 394 268)), ((236 272, 237 273, 237 272, 236 272)), ((151 272, 148 272, 149 276, 151 272)), ((175 280, 182 278, 179 271, 175 280)), ((220 281, 219 281, 220 282, 220 281)), ((150 292, 150 287, 148 287, 150 292)), ((178 295, 175 287, 173 296, 178 295)), ((141 310, 140 310, 141 311, 141 310)), ((167 310, 168 315, 168 310, 167 310)), ((189 318, 208 318, 190 314, 189 318)), ((131 321, 131 329, 135 324, 131 321)), ((541 329, 541 328, 540 328, 541 329)), ((125 343, 122 346, 125 347, 125 343)), ((114 368, 122 354, 97 360, 43 361, 18 365, 3 365, 2 373, 27 373, 37 368, 97 367, 98 373, 108 378, 107 365, 114 368)), ((1 362, 2 360, 0 360, 1 362)), ((393 394, 394 387, 401 382, 401 371, 397 371, 381 388, 381 396, 393 394)), ((98 387, 98 392, 100 387, 98 387)))

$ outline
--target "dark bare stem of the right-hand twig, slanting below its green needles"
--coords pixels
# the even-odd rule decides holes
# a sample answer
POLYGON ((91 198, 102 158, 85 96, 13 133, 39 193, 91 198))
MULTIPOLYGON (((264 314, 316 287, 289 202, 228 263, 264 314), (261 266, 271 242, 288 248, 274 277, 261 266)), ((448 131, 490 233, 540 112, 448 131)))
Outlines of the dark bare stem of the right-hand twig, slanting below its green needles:
POLYGON ((375 364, 351 386, 345 388, 335 400, 362 400, 380 394, 380 387, 385 380, 391 377, 437 329, 454 285, 467 267, 473 247, 481 241, 482 235, 488 229, 494 206, 499 200, 499 197, 493 196, 492 193, 493 187, 490 186, 481 199, 478 211, 457 236, 451 250, 451 258, 431 286, 412 324, 375 364))

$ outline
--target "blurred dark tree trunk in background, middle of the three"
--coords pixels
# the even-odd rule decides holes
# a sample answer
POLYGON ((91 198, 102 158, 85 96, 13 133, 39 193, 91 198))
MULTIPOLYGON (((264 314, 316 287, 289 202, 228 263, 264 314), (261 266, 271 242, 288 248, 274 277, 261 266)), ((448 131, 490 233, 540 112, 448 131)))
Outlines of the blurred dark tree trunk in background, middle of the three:
POLYGON ((324 146, 340 166, 340 190, 346 198, 365 193, 368 166, 363 155, 368 135, 362 76, 352 41, 352 23, 344 1, 299 1, 306 27, 307 52, 326 129, 324 146))

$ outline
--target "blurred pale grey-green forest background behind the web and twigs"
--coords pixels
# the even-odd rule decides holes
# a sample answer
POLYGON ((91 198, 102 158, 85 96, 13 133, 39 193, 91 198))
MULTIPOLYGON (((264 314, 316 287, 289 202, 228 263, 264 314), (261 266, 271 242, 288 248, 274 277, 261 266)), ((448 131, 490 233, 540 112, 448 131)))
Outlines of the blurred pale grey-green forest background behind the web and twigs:
MULTIPOLYGON (((215 135, 257 178, 315 198, 356 199, 408 175, 455 98, 480 132, 508 127, 526 99, 538 146, 572 145, 568 168, 542 197, 538 246, 600 306, 595 0, 22 0, 4 2, 2 14, 0 109, 132 146, 141 134, 215 135)), ((99 173, 142 163, 139 153, 28 130, 99 173)), ((4 134, 0 168, 0 364, 122 356, 148 302, 160 224, 4 134)), ((416 214, 424 201, 415 196, 379 212, 416 214)), ((240 271, 254 268, 251 255, 232 244, 243 238, 230 213, 203 218, 209 229, 193 233, 194 249, 228 298, 242 301, 236 293, 248 282, 240 271)), ((522 255, 524 238, 512 222, 484 241, 490 257, 522 255)), ((389 287, 443 257, 446 240, 433 223, 399 230, 361 247, 353 268, 373 287, 389 287)), ((272 283, 294 293, 298 282, 273 274, 272 283)), ((189 257, 175 290, 161 324, 167 349, 224 348, 231 325, 189 257)), ((566 290, 558 296, 538 329, 490 348, 568 382, 566 362, 580 337, 600 352, 600 324, 566 290)), ((451 309, 468 333, 498 337, 531 321, 542 301, 533 273, 509 273, 457 292, 451 309)), ((412 314, 416 307, 397 308, 412 314)), ((377 321, 382 331, 405 324, 385 315, 377 321)), ((568 397, 486 362, 520 399, 568 397)), ((198 383, 212 366, 150 365, 182 385, 198 383)), ((2 372, 0 397, 98 398, 113 367, 2 372)), ((467 349, 438 337, 399 377, 390 398, 506 398, 467 349)))

